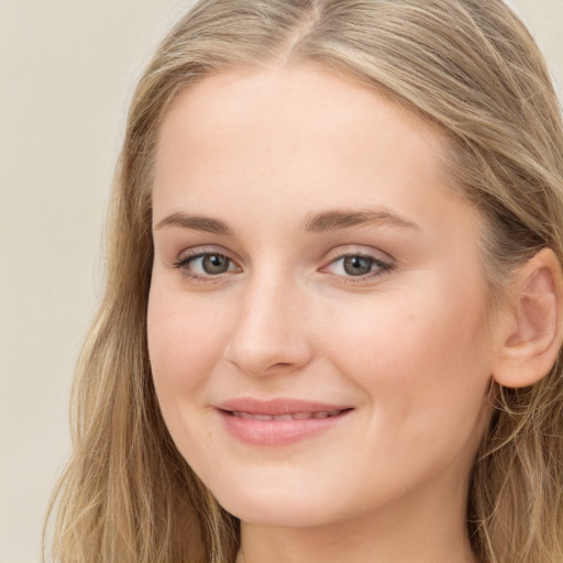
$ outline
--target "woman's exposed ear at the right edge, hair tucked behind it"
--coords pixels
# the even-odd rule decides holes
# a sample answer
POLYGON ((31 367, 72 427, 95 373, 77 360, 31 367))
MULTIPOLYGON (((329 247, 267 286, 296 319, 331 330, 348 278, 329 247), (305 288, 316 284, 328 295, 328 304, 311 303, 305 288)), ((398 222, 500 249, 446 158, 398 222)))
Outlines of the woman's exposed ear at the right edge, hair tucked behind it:
POLYGON ((563 341, 563 277, 551 249, 541 250, 517 273, 501 323, 493 378, 504 387, 527 387, 548 375, 563 341))

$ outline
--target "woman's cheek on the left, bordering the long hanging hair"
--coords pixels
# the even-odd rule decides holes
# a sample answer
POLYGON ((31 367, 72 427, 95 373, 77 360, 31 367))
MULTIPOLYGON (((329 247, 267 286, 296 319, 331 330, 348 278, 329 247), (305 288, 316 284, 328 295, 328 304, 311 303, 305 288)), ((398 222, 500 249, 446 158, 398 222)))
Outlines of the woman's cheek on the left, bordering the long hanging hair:
POLYGON ((222 473, 222 456, 207 422, 210 382, 227 339, 227 311, 187 299, 153 282, 147 340, 156 397, 166 427, 198 474, 222 473), (211 460, 212 468, 207 468, 211 460))

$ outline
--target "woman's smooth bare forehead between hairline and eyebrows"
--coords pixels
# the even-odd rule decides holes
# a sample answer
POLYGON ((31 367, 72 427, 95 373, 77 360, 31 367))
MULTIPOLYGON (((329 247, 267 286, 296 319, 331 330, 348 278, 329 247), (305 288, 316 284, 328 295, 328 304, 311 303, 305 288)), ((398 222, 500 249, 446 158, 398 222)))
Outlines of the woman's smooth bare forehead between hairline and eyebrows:
POLYGON ((324 203, 409 212, 429 190, 443 200, 439 213, 453 198, 445 152, 437 128, 317 65, 224 70, 181 91, 165 115, 155 216, 201 206, 235 214, 257 201, 291 217, 324 203))

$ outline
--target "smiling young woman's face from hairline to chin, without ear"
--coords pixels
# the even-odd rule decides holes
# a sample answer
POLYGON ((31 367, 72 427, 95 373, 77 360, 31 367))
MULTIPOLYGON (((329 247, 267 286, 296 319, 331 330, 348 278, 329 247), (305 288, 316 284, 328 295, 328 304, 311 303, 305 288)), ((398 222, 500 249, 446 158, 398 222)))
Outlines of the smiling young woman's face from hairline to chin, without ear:
POLYGON ((463 512, 495 335, 479 220, 440 152, 417 115, 314 66, 217 74, 168 111, 154 383, 243 520, 463 512))

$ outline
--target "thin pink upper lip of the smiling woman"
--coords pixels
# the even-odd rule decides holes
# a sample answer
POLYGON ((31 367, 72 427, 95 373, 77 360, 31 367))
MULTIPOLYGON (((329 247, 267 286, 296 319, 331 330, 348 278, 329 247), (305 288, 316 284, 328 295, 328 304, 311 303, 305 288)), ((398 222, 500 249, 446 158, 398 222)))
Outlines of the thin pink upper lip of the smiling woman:
POLYGON ((349 405, 334 405, 291 398, 261 400, 251 397, 241 397, 220 402, 216 405, 216 408, 230 412, 279 416, 295 412, 330 412, 334 410, 346 410, 351 407, 349 405))

